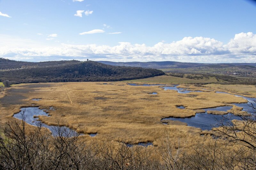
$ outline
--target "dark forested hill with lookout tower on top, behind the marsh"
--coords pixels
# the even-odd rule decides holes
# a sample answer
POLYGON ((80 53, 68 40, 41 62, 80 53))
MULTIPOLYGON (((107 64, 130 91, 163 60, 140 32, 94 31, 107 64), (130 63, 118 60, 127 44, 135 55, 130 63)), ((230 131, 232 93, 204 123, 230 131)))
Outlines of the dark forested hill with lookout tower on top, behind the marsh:
MULTIPOLYGON (((39 82, 119 81, 164 74, 163 71, 156 69, 112 66, 93 61, 72 61, 71 63, 61 61, 61 64, 58 64, 58 62, 56 63, 56 65, 47 64, 46 66, 42 64, 40 66, 32 66, 31 64, 30 67, 23 67, 22 69, 1 70, 0 81, 9 80, 12 84, 39 82)), ((0 66, 3 67, 1 64, 0 66)))

